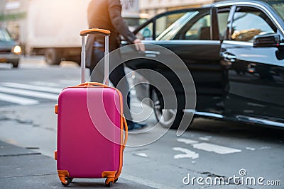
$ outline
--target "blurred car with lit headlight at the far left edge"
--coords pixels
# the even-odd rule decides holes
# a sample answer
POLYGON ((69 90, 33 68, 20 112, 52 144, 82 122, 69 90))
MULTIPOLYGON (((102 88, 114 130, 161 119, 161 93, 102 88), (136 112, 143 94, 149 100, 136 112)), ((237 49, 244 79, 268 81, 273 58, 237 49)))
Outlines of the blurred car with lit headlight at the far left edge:
POLYGON ((21 55, 21 47, 13 40, 4 27, 0 27, 0 63, 11 63, 18 67, 21 55))

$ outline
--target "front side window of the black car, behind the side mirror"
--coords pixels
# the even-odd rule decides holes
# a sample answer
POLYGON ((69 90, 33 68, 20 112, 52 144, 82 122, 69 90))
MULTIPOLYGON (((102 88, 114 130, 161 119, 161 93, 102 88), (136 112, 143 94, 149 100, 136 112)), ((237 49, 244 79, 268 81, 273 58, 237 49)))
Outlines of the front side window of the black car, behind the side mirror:
POLYGON ((253 42, 256 35, 275 33, 268 16, 256 8, 238 8, 234 13, 231 40, 253 42))

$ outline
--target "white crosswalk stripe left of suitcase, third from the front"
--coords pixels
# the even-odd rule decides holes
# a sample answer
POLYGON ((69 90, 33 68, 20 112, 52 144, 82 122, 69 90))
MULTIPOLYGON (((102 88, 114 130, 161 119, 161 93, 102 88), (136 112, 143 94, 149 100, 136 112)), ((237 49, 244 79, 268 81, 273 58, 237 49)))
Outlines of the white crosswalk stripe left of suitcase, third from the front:
POLYGON ((9 83, 9 82, 1 83, 1 86, 7 86, 11 88, 22 88, 22 89, 28 89, 28 90, 33 90, 33 91, 44 91, 44 92, 49 92, 49 93, 60 93, 62 91, 62 88, 54 88, 50 86, 33 86, 33 85, 16 84, 16 83, 9 83))

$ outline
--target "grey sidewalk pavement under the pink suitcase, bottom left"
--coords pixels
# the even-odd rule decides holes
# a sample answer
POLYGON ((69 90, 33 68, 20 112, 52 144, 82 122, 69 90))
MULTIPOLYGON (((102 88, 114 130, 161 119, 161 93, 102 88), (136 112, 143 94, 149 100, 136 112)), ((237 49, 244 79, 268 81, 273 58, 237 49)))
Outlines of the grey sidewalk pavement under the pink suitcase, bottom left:
MULTIPOLYGON (((0 141, 0 188, 65 188, 56 161, 31 149, 0 141)), ((67 188, 106 188, 104 179, 74 179, 67 188)), ((124 178, 111 188, 151 188, 124 178)))

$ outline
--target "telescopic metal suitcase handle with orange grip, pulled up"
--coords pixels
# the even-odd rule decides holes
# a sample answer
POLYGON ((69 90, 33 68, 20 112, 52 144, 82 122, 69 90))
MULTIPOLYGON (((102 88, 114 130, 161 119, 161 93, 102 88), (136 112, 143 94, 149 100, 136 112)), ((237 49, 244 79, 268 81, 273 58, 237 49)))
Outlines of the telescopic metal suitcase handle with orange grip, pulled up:
POLYGON ((103 34, 105 36, 105 45, 104 45, 104 84, 107 86, 109 85, 109 35, 111 32, 109 30, 99 29, 99 28, 92 28, 87 30, 82 30, 80 35, 82 37, 82 52, 81 52, 81 83, 86 81, 86 36, 88 34, 103 34))

